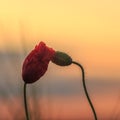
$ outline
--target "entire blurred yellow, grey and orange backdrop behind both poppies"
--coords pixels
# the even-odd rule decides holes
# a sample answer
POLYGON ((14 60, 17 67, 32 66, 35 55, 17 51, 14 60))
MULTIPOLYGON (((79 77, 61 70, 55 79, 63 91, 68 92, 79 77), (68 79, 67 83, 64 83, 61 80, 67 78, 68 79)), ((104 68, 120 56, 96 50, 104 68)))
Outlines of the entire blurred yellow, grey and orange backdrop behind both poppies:
MULTIPOLYGON (((0 120, 25 120, 22 63, 40 41, 85 69, 99 120, 120 119, 119 0, 0 1, 0 120)), ((28 85, 32 120, 93 120, 75 66, 49 64, 28 85)))

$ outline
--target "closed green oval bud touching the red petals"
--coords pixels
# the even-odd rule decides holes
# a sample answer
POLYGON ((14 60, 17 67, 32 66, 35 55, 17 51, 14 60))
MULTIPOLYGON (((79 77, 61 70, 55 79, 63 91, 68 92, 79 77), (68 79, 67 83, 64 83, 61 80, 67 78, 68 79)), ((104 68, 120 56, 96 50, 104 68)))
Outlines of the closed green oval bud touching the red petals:
POLYGON ((68 66, 72 63, 72 58, 63 52, 55 52, 52 62, 60 66, 68 66))

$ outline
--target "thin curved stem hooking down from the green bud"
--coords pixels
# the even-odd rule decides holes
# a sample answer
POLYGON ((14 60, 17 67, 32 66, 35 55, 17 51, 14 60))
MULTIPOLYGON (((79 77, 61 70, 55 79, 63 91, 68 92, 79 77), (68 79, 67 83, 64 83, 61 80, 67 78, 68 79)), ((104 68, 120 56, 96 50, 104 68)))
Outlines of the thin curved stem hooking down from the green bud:
POLYGON ((88 99, 88 102, 89 102, 89 104, 90 104, 90 107, 91 107, 91 109, 92 109, 92 111, 93 111, 94 118, 95 118, 95 120, 97 120, 97 115, 96 115, 94 106, 93 106, 93 104, 92 104, 92 102, 91 102, 91 100, 90 100, 90 97, 89 97, 89 95, 88 95, 87 87, 86 87, 86 84, 85 84, 85 72, 84 72, 84 68, 83 68, 83 66, 82 66, 81 64, 79 64, 79 63, 77 63, 77 62, 75 62, 75 61, 72 61, 72 63, 78 65, 78 66, 81 68, 81 70, 82 70, 82 82, 83 82, 84 91, 85 91, 86 97, 87 97, 87 99, 88 99))

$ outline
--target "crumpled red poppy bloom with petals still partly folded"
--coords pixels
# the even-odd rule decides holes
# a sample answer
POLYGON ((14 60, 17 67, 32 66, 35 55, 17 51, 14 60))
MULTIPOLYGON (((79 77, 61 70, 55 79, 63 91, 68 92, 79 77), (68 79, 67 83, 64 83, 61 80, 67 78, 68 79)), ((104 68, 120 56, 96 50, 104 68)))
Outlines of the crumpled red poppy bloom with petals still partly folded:
POLYGON ((45 43, 40 42, 34 50, 25 58, 22 67, 22 78, 25 83, 33 83, 42 77, 47 71, 49 61, 55 51, 45 43))

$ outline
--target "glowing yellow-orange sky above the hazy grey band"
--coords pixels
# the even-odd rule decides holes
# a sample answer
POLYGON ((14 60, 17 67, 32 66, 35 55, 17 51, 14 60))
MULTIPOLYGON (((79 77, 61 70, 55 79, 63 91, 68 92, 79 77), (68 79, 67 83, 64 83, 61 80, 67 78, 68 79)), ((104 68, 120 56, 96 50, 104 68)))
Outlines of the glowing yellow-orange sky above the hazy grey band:
POLYGON ((120 78, 119 0, 1 0, 0 50, 23 52, 40 40, 69 53, 87 75, 120 78))

